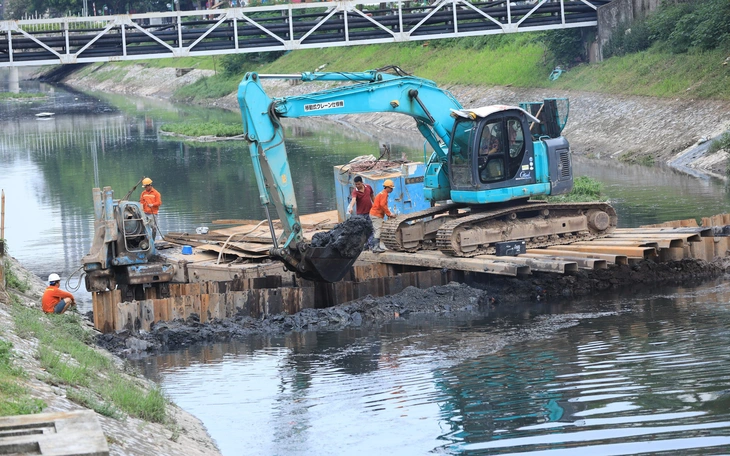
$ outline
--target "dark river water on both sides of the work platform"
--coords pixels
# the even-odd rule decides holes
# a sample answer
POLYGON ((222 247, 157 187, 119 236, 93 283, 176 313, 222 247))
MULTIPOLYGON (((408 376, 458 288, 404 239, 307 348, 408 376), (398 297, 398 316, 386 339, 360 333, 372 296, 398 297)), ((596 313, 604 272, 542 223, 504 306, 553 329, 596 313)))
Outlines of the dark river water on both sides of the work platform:
MULTIPOLYGON (((9 252, 43 279, 59 273, 82 311, 92 187, 121 197, 150 176, 162 231, 263 218, 241 143, 157 133, 164 122, 238 122, 237 113, 38 82, 21 89, 47 96, 0 100, 9 252)), ((287 127, 303 213, 334 208, 334 165, 378 149, 348 129, 307 125, 287 127)), ((422 157, 417 144, 392 149, 422 157)), ((622 227, 730 207, 722 182, 667 169, 576 158, 575 174, 604 184, 622 227)), ((136 364, 203 420, 225 455, 713 454, 730 445, 729 298, 724 282, 620 290, 526 302, 479 321, 252 337, 136 364)))

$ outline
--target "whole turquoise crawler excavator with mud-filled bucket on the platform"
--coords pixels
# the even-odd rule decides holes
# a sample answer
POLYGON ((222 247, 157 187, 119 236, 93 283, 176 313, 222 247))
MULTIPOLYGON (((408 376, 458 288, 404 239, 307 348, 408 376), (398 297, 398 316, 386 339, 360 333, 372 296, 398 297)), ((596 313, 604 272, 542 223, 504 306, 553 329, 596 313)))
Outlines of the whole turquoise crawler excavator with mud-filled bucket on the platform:
MULTIPOLYGON (((433 81, 387 67, 364 72, 250 72, 239 85, 238 102, 274 243, 270 253, 307 279, 340 280, 360 250, 343 255, 333 246, 313 247, 303 238, 282 118, 398 113, 415 120, 432 149, 423 184, 431 207, 383 225, 382 241, 391 250, 438 249, 469 257, 494 254, 508 241, 544 247, 605 236, 616 228, 616 211, 607 203, 531 199, 572 190, 570 146, 562 136, 567 100, 466 109, 433 81), (264 79, 349 84, 272 98, 264 90, 264 79), (278 236, 272 205, 283 227, 278 236)), ((355 241, 365 243, 364 238, 355 241)))

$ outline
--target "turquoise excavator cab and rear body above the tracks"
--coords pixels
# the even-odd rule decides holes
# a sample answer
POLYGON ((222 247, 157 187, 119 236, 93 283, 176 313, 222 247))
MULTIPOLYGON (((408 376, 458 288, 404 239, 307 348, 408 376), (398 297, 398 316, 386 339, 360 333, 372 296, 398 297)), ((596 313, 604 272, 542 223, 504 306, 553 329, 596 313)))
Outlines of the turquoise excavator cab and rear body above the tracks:
MULTIPOLYGON (((536 112, 557 113, 555 100, 546 102, 536 112)), ((501 203, 572 189, 570 147, 560 136, 561 118, 549 115, 553 122, 545 126, 525 109, 505 105, 459 110, 454 117, 449 181, 455 203, 501 203)))

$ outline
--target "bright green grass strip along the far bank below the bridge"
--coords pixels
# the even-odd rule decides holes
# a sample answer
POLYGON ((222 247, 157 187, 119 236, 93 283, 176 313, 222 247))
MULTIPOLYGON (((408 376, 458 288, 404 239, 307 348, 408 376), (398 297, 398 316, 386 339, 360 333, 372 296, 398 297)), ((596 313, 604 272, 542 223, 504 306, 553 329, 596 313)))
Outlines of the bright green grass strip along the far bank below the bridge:
MULTIPOLYGON (((289 52, 268 64, 252 64, 239 74, 221 73, 179 89, 175 98, 201 101, 236 91, 244 73, 298 73, 313 71, 363 71, 398 65, 405 71, 450 85, 514 86, 583 90, 660 98, 730 100, 730 71, 722 62, 727 50, 672 54, 661 46, 596 64, 570 68, 557 81, 544 46, 532 34, 377 44, 289 52)), ((221 57, 159 59, 150 67, 215 69, 221 57)), ((129 65, 115 63, 114 65, 129 65)), ((120 67, 122 68, 122 67, 120 67)))

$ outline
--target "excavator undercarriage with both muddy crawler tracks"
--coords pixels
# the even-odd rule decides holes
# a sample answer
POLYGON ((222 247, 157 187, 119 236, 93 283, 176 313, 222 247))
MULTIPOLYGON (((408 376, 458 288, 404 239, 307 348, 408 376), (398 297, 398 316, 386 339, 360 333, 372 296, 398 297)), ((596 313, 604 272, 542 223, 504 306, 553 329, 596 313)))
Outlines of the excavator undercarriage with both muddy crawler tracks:
POLYGON ((386 221, 381 239, 401 252, 437 249, 472 257, 495 254, 498 242, 524 240, 537 248, 603 237, 617 220, 608 203, 446 204, 386 221))

